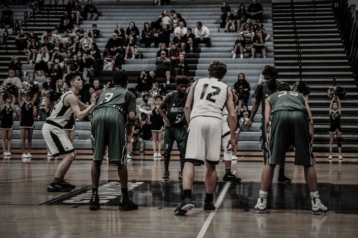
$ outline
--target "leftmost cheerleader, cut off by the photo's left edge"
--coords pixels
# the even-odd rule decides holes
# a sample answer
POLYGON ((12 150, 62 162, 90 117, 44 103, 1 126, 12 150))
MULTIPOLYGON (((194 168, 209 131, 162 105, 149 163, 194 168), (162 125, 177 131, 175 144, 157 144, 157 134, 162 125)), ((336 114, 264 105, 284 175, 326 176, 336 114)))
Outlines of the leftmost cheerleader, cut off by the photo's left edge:
POLYGON ((3 155, 4 158, 6 156, 11 156, 11 137, 14 129, 14 123, 12 121, 12 114, 14 113, 14 105, 15 105, 15 96, 12 94, 7 94, 3 97, 0 95, 0 110, 2 121, 0 123, 1 129, 1 145, 3 146, 3 155), (6 141, 7 140, 7 141, 6 141), (6 150, 6 144, 8 149, 6 150))

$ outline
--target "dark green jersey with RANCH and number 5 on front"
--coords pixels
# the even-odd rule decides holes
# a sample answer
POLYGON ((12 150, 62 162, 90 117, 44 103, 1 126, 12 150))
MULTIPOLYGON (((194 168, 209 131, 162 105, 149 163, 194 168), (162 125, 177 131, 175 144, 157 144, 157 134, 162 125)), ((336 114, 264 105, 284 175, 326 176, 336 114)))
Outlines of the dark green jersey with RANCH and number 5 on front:
POLYGON ((178 92, 173 91, 171 95, 171 100, 167 106, 167 117, 172 126, 185 125, 185 103, 187 101, 188 94, 185 93, 183 99, 180 101, 178 99, 178 92))

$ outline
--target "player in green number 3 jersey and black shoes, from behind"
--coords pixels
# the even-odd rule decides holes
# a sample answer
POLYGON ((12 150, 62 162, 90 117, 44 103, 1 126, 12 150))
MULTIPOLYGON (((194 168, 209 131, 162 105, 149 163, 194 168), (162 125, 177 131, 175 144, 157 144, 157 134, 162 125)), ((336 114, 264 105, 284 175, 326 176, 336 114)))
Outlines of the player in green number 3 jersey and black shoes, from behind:
POLYGON ((91 140, 94 161, 91 169, 92 198, 89 201, 90 210, 100 208, 98 183, 106 146, 108 146, 109 163, 118 165, 118 176, 122 190, 119 209, 123 211, 138 209, 138 205, 130 201, 128 197, 126 146, 126 132, 132 131, 132 125, 135 122, 136 96, 125 89, 128 78, 124 73, 115 74, 113 84, 115 87, 108 88, 101 93, 96 110, 92 113, 91 140))

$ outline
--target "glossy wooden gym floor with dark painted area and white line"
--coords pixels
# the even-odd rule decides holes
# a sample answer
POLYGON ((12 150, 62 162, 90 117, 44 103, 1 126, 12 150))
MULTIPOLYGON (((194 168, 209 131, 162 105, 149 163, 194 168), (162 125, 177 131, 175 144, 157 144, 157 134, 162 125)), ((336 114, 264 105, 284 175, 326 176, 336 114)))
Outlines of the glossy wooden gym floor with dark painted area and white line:
MULTIPOLYGON (((241 161, 240 161, 241 160, 241 161)), ((256 214, 262 162, 233 162, 240 184, 222 181, 225 165, 217 166, 216 212, 204 213, 205 167, 195 166, 193 201, 187 216, 173 211, 180 200, 179 163, 170 163, 170 181, 162 182, 164 163, 128 162, 129 190, 139 204, 135 211, 119 211, 117 167, 102 164, 101 209, 89 211, 92 161, 77 159, 66 178, 77 187, 71 193, 48 193, 60 160, 0 161, 0 237, 353 237, 358 228, 358 164, 356 158, 315 165, 320 198, 329 212, 314 216, 304 184, 303 168, 286 163, 290 185, 277 183, 269 193, 269 211, 256 214)))

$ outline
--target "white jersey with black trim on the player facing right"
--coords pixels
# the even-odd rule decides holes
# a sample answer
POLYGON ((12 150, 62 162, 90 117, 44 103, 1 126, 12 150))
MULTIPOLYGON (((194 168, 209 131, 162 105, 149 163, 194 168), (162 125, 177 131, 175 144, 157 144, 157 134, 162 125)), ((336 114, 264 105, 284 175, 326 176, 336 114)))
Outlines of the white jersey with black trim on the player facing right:
POLYGON ((62 127, 64 127, 64 125, 68 123, 73 111, 71 106, 63 105, 63 100, 71 93, 74 94, 73 91, 67 91, 62 94, 60 99, 57 101, 54 109, 52 110, 51 115, 47 117, 47 120, 57 123, 62 127))

